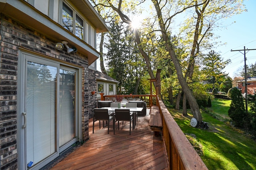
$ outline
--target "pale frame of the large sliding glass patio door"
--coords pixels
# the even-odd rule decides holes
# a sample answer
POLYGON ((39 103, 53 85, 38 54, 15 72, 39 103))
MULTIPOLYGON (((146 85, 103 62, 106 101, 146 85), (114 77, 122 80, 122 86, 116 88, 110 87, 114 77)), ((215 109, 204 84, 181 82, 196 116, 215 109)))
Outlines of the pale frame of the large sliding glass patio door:
MULTIPOLYGON (((25 103, 25 96, 26 96, 26 56, 31 56, 33 57, 35 60, 38 60, 38 62, 42 62, 42 63, 51 63, 50 65, 52 65, 52 63, 55 63, 58 65, 58 74, 59 74, 59 70, 60 68, 72 68, 77 70, 76 71, 76 106, 75 106, 75 110, 76 110, 76 124, 75 124, 75 129, 76 129, 76 138, 73 139, 72 141, 70 141, 69 143, 67 143, 66 145, 59 147, 59 143, 58 143, 58 133, 56 133, 56 153, 52 154, 51 156, 49 156, 48 158, 44 159, 42 163, 38 163, 38 165, 33 166, 31 169, 39 169, 42 168, 43 166, 45 166, 48 162, 52 161, 54 158, 56 158, 60 152, 64 151, 65 149, 67 149, 68 147, 70 147, 70 145, 72 145, 72 143, 75 143, 76 141, 78 141, 79 139, 82 139, 82 68, 81 67, 76 67, 74 65, 68 65, 68 64, 64 64, 61 63, 57 60, 52 60, 49 58, 46 58, 44 56, 41 55, 35 55, 34 53, 27 53, 25 51, 19 51, 19 57, 18 57, 18 76, 17 76, 17 154, 18 154, 18 169, 21 170, 27 170, 27 165, 26 165, 26 134, 25 134, 25 130, 24 128, 22 128, 22 126, 24 126, 24 121, 25 121, 25 111, 26 111, 26 103, 25 103), (44 163, 46 162, 46 163, 44 163)), ((30 57, 28 57, 30 58, 30 57)), ((55 65, 54 64, 54 65, 55 65)), ((58 87, 58 86, 57 86, 58 87)), ((57 88, 58 89, 58 88, 57 88)), ((58 90, 57 90, 57 94, 58 90)), ((57 104, 58 104, 58 99, 57 100, 57 104)), ((58 107, 58 106, 56 106, 58 107)), ((57 120, 58 120, 58 114, 57 114, 57 120)), ((26 128, 26 127, 25 127, 26 128)), ((56 131, 58 132, 58 121, 56 122, 56 131)))

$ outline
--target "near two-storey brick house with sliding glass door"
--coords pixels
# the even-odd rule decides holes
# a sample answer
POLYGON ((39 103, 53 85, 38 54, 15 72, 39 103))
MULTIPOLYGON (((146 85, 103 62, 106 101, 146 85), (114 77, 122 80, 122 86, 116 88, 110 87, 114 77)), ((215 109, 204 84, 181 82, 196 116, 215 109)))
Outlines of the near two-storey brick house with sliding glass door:
POLYGON ((0 0, 0 14, 0 169, 38 170, 89 139, 109 30, 88 0, 0 0))

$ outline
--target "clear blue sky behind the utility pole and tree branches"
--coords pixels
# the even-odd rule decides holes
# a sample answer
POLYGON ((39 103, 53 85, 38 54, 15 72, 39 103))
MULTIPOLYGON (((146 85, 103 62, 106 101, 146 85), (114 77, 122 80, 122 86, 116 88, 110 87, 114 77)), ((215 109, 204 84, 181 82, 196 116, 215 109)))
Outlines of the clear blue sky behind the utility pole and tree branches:
MULTIPOLYGON (((215 47, 213 50, 220 54, 223 61, 231 60, 231 63, 223 70, 231 78, 234 78, 236 73, 240 72, 239 69, 242 70, 244 66, 244 46, 246 49, 256 49, 256 0, 244 0, 244 4, 247 12, 223 19, 222 25, 224 28, 221 31, 214 32, 220 36, 218 41, 225 45, 215 47)), ((145 5, 148 6, 148 4, 145 5)), ((250 66, 255 63, 256 50, 246 51, 246 64, 250 66)), ((100 70, 99 59, 97 70, 100 70)))

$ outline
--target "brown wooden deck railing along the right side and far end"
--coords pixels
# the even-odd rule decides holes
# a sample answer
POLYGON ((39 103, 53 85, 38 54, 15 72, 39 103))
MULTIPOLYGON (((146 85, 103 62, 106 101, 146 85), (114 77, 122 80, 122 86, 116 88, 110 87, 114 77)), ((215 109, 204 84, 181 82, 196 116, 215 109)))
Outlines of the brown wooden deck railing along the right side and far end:
MULTIPOLYGON (((208 170, 196 150, 190 144, 172 115, 156 95, 122 95, 124 98, 141 98, 149 107, 158 106, 162 117, 163 140, 166 147, 170 170, 208 170)), ((104 99, 114 101, 115 96, 104 99)), ((193 128, 193 127, 191 127, 193 128)))

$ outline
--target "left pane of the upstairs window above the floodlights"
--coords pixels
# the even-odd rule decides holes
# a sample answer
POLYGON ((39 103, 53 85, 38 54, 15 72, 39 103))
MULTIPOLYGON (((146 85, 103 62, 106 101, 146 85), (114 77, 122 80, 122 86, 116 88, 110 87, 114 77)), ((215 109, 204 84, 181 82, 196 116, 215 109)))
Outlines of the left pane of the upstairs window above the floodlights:
POLYGON ((62 7, 62 26, 73 33, 73 10, 65 3, 63 3, 62 7))

